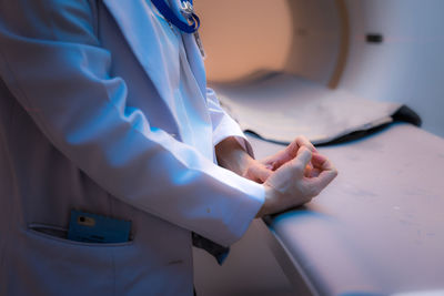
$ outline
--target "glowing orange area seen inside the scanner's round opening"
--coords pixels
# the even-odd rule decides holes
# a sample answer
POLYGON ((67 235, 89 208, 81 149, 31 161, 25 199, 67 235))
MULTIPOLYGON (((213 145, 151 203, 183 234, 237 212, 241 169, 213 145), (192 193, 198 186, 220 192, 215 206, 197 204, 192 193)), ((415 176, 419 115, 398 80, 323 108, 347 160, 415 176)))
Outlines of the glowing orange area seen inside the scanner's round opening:
POLYGON ((205 0, 195 1, 195 9, 210 80, 236 80, 258 69, 284 67, 292 42, 286 0, 205 0))

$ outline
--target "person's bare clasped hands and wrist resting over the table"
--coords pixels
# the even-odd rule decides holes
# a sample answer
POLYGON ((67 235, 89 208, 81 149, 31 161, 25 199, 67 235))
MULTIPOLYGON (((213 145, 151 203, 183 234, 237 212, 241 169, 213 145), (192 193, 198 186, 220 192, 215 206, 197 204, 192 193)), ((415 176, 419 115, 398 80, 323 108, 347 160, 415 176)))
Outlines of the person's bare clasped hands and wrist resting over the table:
POLYGON ((337 175, 333 164, 304 136, 264 160, 254 160, 231 137, 216 146, 220 165, 263 184, 265 202, 256 217, 310 202, 337 175))

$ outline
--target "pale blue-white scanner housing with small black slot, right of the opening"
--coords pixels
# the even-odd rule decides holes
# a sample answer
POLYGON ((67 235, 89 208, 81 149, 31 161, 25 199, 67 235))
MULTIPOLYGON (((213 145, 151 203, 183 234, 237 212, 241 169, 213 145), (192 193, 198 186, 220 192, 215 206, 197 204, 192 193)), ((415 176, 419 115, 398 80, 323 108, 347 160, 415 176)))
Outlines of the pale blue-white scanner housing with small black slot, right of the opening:
POLYGON ((340 86, 372 100, 406 103, 444 137, 444 1, 346 0, 351 43, 340 86), (365 42, 383 33, 382 44, 365 42))

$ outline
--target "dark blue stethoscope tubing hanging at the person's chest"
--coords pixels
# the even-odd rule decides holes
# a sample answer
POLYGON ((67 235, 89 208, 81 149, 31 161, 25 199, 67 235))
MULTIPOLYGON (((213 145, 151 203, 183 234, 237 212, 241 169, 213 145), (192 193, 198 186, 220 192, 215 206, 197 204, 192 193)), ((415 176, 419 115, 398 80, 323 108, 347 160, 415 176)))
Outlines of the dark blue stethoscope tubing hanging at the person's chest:
MULTIPOLYGON (((201 25, 201 21, 194 12, 190 12, 188 17, 191 23, 186 23, 178 18, 175 13, 171 10, 171 8, 167 4, 165 0, 151 0, 154 7, 162 13, 163 18, 165 18, 169 22, 174 24, 179 30, 185 33, 195 33, 201 25)), ((181 0, 182 3, 193 4, 192 0, 181 0)), ((186 7, 186 6, 185 6, 186 7)))

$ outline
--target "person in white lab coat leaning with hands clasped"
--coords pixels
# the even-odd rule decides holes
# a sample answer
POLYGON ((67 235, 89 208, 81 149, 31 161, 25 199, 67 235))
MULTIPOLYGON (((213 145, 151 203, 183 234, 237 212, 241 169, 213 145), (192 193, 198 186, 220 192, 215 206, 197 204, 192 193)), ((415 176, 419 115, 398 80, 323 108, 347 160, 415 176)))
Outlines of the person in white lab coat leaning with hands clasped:
POLYGON ((304 137, 255 161, 149 0, 0 0, 0 295, 192 295, 192 232, 229 246, 336 175, 304 137), (68 239, 71 210, 131 239, 68 239))

